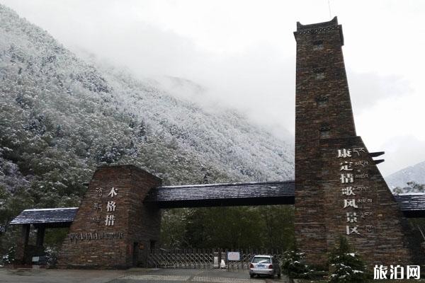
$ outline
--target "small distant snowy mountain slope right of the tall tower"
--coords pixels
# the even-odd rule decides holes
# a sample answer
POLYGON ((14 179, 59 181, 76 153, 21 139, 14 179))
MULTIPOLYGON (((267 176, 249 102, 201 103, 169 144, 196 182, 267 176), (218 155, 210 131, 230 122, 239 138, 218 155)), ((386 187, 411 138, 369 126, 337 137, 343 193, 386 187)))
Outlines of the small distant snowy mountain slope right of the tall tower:
POLYGON ((407 182, 425 184, 425 161, 392 173, 385 181, 391 188, 407 187, 407 182))

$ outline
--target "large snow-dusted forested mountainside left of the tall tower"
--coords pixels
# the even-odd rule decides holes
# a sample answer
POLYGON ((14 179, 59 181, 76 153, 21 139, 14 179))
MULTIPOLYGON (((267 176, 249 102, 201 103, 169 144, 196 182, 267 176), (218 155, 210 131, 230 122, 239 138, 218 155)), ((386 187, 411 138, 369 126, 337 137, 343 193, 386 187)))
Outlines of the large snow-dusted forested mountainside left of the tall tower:
POLYGON ((176 185, 293 178, 293 144, 184 97, 84 62, 0 5, 0 188, 30 187, 35 206, 74 203, 100 163, 133 163, 176 185))

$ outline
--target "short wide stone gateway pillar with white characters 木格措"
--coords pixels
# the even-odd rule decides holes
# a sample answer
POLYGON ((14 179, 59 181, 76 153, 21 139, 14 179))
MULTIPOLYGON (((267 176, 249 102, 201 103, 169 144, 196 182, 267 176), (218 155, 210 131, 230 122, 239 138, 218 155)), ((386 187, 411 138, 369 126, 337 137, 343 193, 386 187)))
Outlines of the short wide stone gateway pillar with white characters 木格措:
POLYGON ((99 167, 62 244, 58 266, 145 266, 149 249, 159 241, 161 211, 143 200, 161 183, 135 166, 99 167))

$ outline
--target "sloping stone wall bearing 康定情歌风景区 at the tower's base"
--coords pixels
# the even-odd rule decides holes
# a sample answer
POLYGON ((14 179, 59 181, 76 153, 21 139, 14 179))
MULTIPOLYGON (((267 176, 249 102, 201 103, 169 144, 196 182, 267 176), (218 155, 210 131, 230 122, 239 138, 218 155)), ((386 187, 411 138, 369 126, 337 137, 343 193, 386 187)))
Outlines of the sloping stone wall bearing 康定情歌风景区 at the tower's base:
POLYGON ((346 236, 372 265, 412 265, 407 219, 361 137, 323 139, 319 146, 327 247, 346 236))

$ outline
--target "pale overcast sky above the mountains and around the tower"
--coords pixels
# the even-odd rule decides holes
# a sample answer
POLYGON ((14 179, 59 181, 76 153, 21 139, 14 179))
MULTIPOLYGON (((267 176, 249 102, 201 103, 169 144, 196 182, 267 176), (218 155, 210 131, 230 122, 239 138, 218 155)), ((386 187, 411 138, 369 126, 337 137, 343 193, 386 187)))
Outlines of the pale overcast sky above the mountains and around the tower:
POLYGON ((382 175, 425 161, 425 1, 0 3, 77 54, 140 78, 189 79, 205 88, 203 100, 242 110, 275 133, 295 130, 296 22, 338 16, 357 134, 370 151, 386 152, 382 175))

